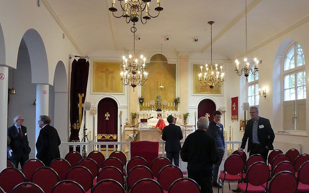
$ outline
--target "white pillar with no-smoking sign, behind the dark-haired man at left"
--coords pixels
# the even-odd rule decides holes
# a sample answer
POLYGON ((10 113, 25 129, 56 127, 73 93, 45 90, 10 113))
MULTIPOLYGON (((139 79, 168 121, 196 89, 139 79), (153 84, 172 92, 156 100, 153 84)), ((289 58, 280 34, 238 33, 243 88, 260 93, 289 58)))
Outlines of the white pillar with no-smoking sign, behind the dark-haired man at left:
POLYGON ((48 115, 48 101, 49 101, 49 85, 36 85, 36 140, 40 133, 38 121, 40 115, 48 115))

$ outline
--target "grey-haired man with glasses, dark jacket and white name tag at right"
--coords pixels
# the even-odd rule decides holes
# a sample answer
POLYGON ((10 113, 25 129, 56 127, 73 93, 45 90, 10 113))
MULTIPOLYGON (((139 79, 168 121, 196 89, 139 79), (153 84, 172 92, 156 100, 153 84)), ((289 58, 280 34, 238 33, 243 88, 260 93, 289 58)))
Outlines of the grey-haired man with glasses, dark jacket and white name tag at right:
POLYGON ((275 134, 270 125, 269 119, 259 116, 259 109, 257 107, 250 107, 251 118, 248 120, 243 134, 243 139, 239 152, 243 152, 248 140, 249 156, 253 154, 260 154, 267 161, 268 151, 273 150, 273 140, 275 134))

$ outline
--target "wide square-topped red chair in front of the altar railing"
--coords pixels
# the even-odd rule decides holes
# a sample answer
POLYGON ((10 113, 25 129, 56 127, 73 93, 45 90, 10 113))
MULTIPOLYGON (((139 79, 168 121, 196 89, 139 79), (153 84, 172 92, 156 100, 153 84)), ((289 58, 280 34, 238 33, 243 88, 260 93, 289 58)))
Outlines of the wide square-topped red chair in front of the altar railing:
POLYGON ((145 158, 148 166, 158 157, 158 141, 131 141, 131 157, 140 156, 145 158))

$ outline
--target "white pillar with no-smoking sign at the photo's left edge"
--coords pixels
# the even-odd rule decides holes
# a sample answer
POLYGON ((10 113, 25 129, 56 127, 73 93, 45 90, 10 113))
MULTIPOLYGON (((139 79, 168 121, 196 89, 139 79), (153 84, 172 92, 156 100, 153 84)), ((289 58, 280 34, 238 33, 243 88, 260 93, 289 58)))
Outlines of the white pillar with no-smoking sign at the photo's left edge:
POLYGON ((0 65, 0 171, 6 168, 8 78, 9 68, 0 65))

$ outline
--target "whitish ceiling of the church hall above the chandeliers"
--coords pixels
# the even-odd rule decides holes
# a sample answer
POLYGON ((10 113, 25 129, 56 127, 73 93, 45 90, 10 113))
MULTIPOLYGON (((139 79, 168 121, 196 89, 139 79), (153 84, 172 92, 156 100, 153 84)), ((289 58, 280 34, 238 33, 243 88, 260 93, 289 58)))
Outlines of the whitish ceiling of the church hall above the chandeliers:
MULTIPOLYGON (((132 22, 115 18, 108 10, 112 0, 47 0, 84 55, 99 50, 133 48, 132 22)), ((155 15, 156 0, 150 2, 155 15)), ((161 0, 164 8, 146 25, 136 24, 137 49, 210 51, 233 59, 245 52, 245 0, 161 0), (165 41, 165 36, 170 38, 165 41), (193 38, 198 38, 194 42, 193 38)), ((120 15, 119 1, 116 0, 120 15)), ((309 0, 247 0, 248 50, 307 17, 309 0)))

